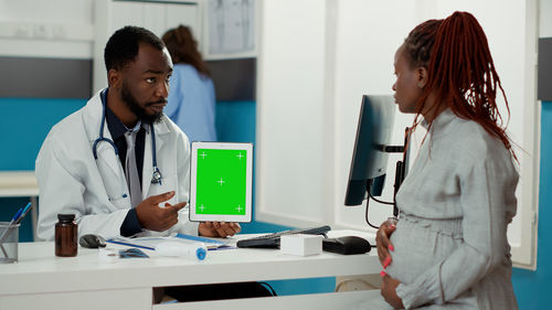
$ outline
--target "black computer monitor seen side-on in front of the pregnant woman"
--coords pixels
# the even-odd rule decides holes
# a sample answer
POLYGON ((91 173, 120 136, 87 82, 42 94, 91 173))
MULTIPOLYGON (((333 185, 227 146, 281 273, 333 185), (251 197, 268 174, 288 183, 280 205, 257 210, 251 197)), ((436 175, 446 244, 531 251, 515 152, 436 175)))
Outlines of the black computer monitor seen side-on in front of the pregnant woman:
POLYGON ((402 151, 391 147, 395 104, 391 95, 364 95, 360 107, 357 139, 347 184, 346 205, 360 205, 367 196, 381 195, 388 168, 388 152, 402 151))

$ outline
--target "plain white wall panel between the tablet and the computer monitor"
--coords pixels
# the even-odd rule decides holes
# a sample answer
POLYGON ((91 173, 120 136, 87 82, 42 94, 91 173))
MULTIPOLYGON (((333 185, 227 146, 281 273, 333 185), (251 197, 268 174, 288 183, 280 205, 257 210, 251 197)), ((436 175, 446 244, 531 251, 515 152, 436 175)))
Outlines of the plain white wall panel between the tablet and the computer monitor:
POLYGON ((325 147, 331 143, 323 115, 325 35, 326 26, 331 28, 326 6, 319 0, 263 4, 255 162, 256 212, 266 222, 331 223, 326 211, 331 190, 325 191, 330 180, 325 147))

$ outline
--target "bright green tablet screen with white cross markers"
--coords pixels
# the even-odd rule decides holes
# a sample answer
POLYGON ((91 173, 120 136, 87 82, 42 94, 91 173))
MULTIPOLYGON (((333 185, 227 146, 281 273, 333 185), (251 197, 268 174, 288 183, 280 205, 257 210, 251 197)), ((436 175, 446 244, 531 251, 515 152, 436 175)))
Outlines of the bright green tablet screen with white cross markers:
POLYGON ((246 152, 198 149, 197 160, 195 213, 244 215, 246 152))

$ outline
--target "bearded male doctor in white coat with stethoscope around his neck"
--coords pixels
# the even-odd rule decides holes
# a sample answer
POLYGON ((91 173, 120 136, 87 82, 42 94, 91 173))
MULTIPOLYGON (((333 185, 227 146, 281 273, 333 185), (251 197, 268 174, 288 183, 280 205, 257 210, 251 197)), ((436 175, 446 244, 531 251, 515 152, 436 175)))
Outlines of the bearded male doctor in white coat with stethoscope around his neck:
POLYGON ((188 137, 163 114, 172 62, 150 31, 125 26, 104 51, 109 87, 55 125, 36 159, 38 235, 53 240, 59 213, 78 235, 231 236, 236 223, 188 221, 188 137))

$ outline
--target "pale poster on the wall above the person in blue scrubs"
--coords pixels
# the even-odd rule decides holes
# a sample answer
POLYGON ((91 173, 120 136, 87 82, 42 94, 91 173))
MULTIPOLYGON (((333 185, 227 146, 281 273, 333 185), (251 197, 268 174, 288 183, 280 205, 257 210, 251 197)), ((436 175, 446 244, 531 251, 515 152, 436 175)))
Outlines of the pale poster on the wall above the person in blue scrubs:
POLYGON ((210 0, 205 58, 255 56, 255 0, 210 0))

